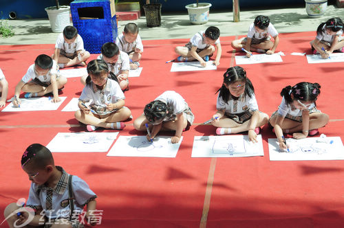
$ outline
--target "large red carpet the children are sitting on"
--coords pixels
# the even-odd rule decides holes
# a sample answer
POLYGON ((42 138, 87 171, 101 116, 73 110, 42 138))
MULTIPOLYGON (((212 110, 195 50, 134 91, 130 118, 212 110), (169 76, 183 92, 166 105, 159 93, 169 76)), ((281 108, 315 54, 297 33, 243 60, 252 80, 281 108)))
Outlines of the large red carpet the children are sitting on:
MULTIPOLYGON (((242 67, 255 87, 259 109, 268 115, 280 104, 283 87, 319 82, 316 104, 331 119, 320 131, 343 140, 344 90, 339 86, 343 62, 310 65, 305 56, 290 55, 310 54, 314 34, 281 34, 277 52, 286 54, 283 62, 242 67)), ((175 90, 186 99, 195 124, 183 133, 175 159, 54 153, 57 165, 80 176, 98 195, 97 209, 104 210, 100 227, 200 227, 201 223, 206 227, 343 227, 344 161, 269 161, 267 140, 275 135, 267 126, 262 130, 264 157, 191 158, 193 136, 215 134, 213 126, 198 124, 215 113, 215 92, 222 75, 235 65, 230 47, 234 38, 221 38, 223 54, 217 71, 193 72, 170 72, 171 63, 165 63, 176 58, 173 49, 187 39, 144 41, 143 71, 139 78, 129 78, 126 106, 138 117, 144 105, 163 91, 175 90)), ((0 67, 10 83, 8 98, 34 58, 51 55, 53 49, 54 45, 0 46, 0 67)), ((8 203, 28 196, 30 181, 20 166, 25 148, 36 142, 47 145, 58 132, 85 130, 74 113, 61 112, 82 89, 79 78, 69 78, 61 94, 67 100, 57 111, 0 113, 1 221, 8 203)), ((120 135, 142 134, 128 122, 120 135)))

